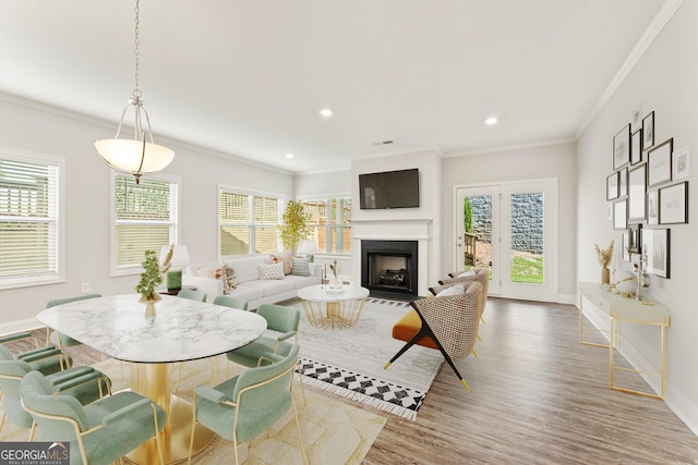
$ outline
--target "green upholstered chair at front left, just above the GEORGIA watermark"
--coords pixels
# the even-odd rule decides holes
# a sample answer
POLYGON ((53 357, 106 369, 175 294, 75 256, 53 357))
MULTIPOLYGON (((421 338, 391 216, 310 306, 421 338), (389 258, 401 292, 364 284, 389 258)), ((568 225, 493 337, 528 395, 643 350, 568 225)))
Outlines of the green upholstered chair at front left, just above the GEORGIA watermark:
POLYGON ((39 440, 70 442, 71 464, 108 464, 155 437, 165 411, 131 391, 118 392, 83 406, 75 397, 55 394, 49 381, 31 371, 20 383, 22 405, 38 425, 39 440))

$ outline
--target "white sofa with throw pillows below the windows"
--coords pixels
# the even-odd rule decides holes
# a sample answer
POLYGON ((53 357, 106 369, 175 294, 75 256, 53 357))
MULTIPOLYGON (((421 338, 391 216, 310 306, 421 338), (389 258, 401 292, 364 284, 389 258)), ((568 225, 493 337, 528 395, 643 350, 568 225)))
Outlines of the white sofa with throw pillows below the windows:
MULTIPOLYGON (((311 276, 286 274, 281 280, 261 280, 258 266, 269 264, 268 254, 225 260, 236 274, 237 286, 230 291, 230 296, 248 301, 248 309, 253 310, 262 304, 274 304, 296 297, 298 290, 308 285, 320 284, 321 276, 315 273, 315 264, 310 264, 311 276)), ((222 280, 202 278, 200 267, 218 268, 220 264, 192 264, 182 272, 182 284, 196 286, 197 291, 207 294, 206 302, 213 302, 218 295, 224 295, 222 280)))

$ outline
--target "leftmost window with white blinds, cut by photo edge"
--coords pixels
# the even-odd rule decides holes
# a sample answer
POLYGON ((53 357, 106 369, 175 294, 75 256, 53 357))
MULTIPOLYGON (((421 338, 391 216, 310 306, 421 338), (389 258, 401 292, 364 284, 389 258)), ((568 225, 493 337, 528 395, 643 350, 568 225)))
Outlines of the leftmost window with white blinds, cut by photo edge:
POLYGON ((0 289, 64 279, 63 171, 60 157, 0 150, 0 289))

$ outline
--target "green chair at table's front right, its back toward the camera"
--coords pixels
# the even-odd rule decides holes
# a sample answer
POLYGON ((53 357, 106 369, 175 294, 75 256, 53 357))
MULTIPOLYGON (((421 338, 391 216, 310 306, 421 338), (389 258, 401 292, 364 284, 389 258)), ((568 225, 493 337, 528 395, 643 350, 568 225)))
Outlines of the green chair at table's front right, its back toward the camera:
MULTIPOLYGON (((193 426, 198 421, 218 436, 233 441, 236 464, 240 463, 238 444, 264 433, 291 407, 296 418, 301 455, 305 463, 298 409, 291 392, 299 346, 290 345, 286 356, 265 355, 265 360, 270 365, 251 368, 214 388, 200 386, 194 389, 193 426)), ((192 428, 193 431, 194 428, 192 428)), ((189 448, 190 464, 193 443, 192 433, 189 448)))

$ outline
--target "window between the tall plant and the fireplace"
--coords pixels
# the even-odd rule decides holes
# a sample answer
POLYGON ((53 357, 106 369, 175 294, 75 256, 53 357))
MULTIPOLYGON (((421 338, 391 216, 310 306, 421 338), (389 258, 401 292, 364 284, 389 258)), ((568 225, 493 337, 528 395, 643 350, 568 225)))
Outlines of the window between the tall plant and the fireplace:
POLYGON ((351 198, 332 197, 302 200, 315 227, 317 252, 351 253, 351 198))

